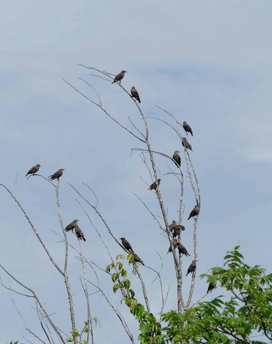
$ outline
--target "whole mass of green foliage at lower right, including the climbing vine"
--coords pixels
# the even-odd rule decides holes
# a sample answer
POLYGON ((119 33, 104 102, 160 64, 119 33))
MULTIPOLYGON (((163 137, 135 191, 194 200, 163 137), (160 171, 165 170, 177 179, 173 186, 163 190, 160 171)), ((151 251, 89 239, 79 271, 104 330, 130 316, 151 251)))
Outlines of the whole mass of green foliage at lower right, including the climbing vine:
MULTIPOLYGON (((110 264, 107 271, 114 269, 113 291, 121 290, 122 300, 130 308, 139 322, 138 340, 141 344, 263 344, 249 339, 255 331, 266 336, 272 343, 272 274, 265 275, 260 266, 250 267, 236 246, 227 252, 223 267, 210 269, 211 274, 203 274, 207 282, 225 288, 227 296, 220 295, 211 301, 199 302, 184 314, 176 311, 162 313, 162 323, 149 314, 144 305, 137 302, 127 272, 118 261, 110 264)), ((122 255, 117 256, 123 259, 122 255)), ((133 262, 133 256, 127 259, 133 262)), ((218 286, 218 287, 219 287, 218 286)))

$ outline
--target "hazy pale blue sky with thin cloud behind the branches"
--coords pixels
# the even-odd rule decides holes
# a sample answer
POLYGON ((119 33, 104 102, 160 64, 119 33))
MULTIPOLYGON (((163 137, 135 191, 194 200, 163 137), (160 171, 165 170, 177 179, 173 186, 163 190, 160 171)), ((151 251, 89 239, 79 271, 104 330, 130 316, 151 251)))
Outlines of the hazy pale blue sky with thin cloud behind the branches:
MULTIPOLYGON (((63 266, 61 238, 54 187, 41 177, 25 177, 40 164, 46 178, 65 169, 60 179, 61 215, 64 225, 75 218, 83 230, 86 259, 105 268, 110 261, 92 223, 115 257, 123 253, 91 207, 72 189, 72 184, 98 209, 117 238, 125 237, 145 265, 161 271, 164 293, 170 286, 165 311, 176 309, 173 257, 166 256, 169 242, 143 203, 160 215, 155 192, 146 191, 152 181, 139 151, 144 145, 120 128, 97 106, 70 87, 73 85, 102 106, 129 129, 129 118, 140 130, 143 121, 133 100, 110 82, 90 74, 91 67, 115 76, 127 71, 122 86, 134 85, 141 110, 149 125, 151 148, 169 156, 181 151, 184 181, 183 244, 193 256, 193 220, 187 215, 195 205, 189 185, 181 142, 162 121, 186 121, 193 130, 188 140, 199 182, 201 210, 197 226, 198 265, 193 302, 207 289, 198 276, 221 266, 227 251, 241 245, 249 265, 261 265, 271 272, 271 185, 272 172, 272 46, 271 1, 6 1, 0 22, 2 35, 0 64, 0 183, 9 189, 28 213, 42 240, 58 264, 63 266), (82 66, 83 65, 83 66, 82 66), (84 67, 85 66, 85 67, 84 67), (89 67, 89 68, 86 68, 89 67), (83 80, 85 81, 83 81, 83 80), (69 183, 69 184, 68 184, 69 183), (84 183, 84 184, 83 184, 84 183), (135 196, 137 194, 143 203, 135 196), (80 204, 79 204, 79 203, 80 204), (81 207, 82 205, 82 207, 81 207), (54 231, 54 232, 53 232, 54 231), (56 233, 57 234, 56 234, 56 233)), ((183 128, 180 129, 184 135, 183 128)), ((185 136, 185 135, 184 135, 185 136)), ((149 157, 145 155, 150 166, 149 157)), ((162 179, 160 190, 167 218, 177 219, 179 185, 164 158, 155 155, 162 179)), ((58 326, 70 331, 67 296, 61 276, 50 265, 24 214, 1 187, 0 262, 14 277, 33 288, 48 307, 58 326)), ((162 220, 158 217, 161 225, 162 220)), ((68 233, 71 245, 77 239, 68 233)), ((69 251, 69 283, 73 287, 77 328, 87 319, 80 286, 80 263, 69 251)), ((191 257, 183 259, 185 271, 191 257)), ((140 266, 153 314, 160 312, 161 293, 156 277, 140 266), (157 283, 157 284, 156 284, 157 283), (159 302, 158 302, 159 300, 159 302)), ((185 271, 186 272, 186 271, 185 271)), ((90 280, 95 281, 91 269, 90 280)), ((1 271, 5 285, 22 290, 1 271)), ((129 273, 133 290, 143 302, 139 281, 129 273)), ((112 293, 112 282, 99 272, 102 288, 125 317, 134 341, 137 323, 120 295, 112 293)), ((185 299, 190 286, 184 278, 185 299)), ((89 292, 95 288, 89 286, 89 292)), ((216 297, 217 288, 205 300, 216 297)), ((0 287, 3 343, 36 343, 27 327, 43 335, 28 297, 0 287), (13 302, 14 304, 13 304, 13 302), (4 332, 3 332, 4 330, 4 332)), ((165 297, 165 295, 164 295, 165 297)), ((95 342, 105 341, 109 331, 113 344, 127 341, 112 310, 98 293, 91 295, 92 316, 100 326, 95 342)), ((263 340, 263 338, 260 338, 263 340)))

